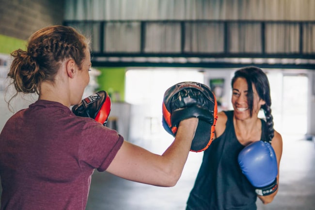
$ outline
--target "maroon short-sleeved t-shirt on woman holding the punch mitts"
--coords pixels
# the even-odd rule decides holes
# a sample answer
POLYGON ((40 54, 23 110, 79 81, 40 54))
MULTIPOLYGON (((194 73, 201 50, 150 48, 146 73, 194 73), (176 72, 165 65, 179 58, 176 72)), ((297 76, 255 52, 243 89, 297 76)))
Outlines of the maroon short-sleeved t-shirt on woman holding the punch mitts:
POLYGON ((106 170, 122 144, 115 130, 36 101, 0 134, 1 210, 84 210, 94 169, 106 170))

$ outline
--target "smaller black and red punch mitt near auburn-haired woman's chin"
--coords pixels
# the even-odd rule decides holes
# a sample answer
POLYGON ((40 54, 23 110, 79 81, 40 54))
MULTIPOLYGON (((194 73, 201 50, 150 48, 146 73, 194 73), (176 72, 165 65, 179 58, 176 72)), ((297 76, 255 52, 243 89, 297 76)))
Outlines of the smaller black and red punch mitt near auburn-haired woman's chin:
POLYGON ((72 112, 77 116, 93 118, 105 126, 110 115, 110 109, 110 96, 106 91, 101 90, 73 106, 72 112))

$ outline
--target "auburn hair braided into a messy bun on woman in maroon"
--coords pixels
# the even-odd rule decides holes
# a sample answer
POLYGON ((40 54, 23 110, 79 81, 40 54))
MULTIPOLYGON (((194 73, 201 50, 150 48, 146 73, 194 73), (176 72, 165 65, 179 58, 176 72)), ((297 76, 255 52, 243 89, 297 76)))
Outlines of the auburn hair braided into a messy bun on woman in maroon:
POLYGON ((85 59, 84 50, 88 45, 89 40, 67 26, 50 26, 33 33, 28 40, 26 51, 17 49, 11 53, 14 59, 8 78, 13 79, 11 84, 16 89, 13 97, 18 93, 39 94, 40 83, 54 82, 65 59, 73 59, 81 69, 85 59))

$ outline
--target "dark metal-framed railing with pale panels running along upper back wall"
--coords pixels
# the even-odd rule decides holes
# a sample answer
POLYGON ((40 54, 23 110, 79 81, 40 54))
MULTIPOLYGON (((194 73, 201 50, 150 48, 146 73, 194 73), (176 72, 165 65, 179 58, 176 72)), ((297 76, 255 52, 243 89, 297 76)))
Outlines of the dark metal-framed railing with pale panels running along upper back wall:
POLYGON ((95 66, 260 64, 315 69, 315 21, 64 21, 91 37, 95 66))

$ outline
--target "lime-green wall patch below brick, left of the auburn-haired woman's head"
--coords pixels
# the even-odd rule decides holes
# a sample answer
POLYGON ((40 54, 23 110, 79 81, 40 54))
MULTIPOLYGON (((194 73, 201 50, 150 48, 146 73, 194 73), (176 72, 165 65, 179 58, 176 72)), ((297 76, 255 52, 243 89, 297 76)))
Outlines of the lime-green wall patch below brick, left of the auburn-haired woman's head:
POLYGON ((14 50, 21 48, 26 49, 26 40, 16 39, 13 37, 0 34, 0 53, 10 54, 14 50))

